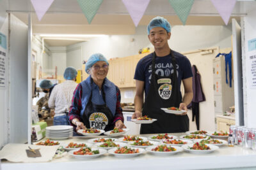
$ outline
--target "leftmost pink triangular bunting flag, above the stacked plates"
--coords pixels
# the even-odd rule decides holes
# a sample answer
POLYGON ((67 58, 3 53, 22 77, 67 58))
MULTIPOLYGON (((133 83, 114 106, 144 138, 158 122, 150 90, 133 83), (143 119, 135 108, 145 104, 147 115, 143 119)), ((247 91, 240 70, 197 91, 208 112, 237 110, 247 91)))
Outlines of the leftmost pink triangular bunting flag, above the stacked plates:
POLYGON ((53 1, 54 0, 31 0, 31 3, 36 11, 38 20, 42 20, 53 1))

